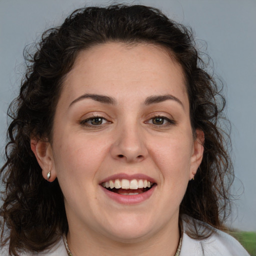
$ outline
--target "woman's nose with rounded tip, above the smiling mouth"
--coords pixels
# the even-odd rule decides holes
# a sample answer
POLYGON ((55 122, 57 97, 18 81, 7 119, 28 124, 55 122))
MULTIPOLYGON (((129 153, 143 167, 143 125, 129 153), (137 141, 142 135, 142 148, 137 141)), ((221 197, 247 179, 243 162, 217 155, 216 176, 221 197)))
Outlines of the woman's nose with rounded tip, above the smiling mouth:
POLYGON ((139 162, 144 160, 148 151, 145 145, 143 132, 137 127, 119 128, 111 146, 111 156, 114 159, 126 162, 139 162))

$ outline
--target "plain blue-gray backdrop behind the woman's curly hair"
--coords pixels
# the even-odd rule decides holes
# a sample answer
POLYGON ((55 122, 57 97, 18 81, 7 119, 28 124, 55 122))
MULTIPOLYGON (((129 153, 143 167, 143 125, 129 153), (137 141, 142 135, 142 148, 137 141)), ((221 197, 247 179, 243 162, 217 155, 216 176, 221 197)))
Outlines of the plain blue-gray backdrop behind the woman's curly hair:
MULTIPOLYGON (((0 162, 7 128, 6 109, 18 93, 24 71, 22 50, 52 25, 83 5, 103 0, 0 0, 0 162)), ((120 1, 115 1, 120 2, 120 1)), ((214 70, 226 83, 227 115, 232 124, 232 158, 236 179, 229 225, 256 230, 256 1, 141 0, 126 3, 158 7, 190 25, 198 43, 207 42, 214 70), (243 185, 242 185, 243 184, 243 185), (244 191, 243 191, 244 190, 244 191)))

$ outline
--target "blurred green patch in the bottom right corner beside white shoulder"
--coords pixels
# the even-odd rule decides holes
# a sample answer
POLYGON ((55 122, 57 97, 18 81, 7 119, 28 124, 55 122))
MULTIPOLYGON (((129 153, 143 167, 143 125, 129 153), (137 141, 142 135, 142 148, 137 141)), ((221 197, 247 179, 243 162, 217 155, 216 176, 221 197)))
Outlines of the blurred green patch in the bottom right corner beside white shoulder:
POLYGON ((238 240, 251 256, 256 256, 256 232, 237 231, 228 233, 238 240))

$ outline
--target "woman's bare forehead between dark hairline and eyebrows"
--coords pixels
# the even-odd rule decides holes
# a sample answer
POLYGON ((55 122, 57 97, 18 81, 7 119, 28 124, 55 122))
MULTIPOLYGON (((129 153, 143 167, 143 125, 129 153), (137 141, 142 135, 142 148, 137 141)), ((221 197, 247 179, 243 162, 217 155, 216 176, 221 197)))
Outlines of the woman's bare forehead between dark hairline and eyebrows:
POLYGON ((109 42, 83 50, 64 79, 69 101, 85 92, 98 91, 122 92, 128 97, 131 90, 141 94, 148 90, 152 94, 187 94, 181 66, 166 49, 148 43, 109 42))

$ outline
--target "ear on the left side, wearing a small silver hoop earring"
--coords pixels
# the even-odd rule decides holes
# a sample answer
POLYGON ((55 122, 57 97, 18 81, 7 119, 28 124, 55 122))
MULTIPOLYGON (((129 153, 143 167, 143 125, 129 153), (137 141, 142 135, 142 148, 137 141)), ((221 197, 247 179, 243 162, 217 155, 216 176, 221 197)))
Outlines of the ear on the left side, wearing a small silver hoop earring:
POLYGON ((30 147, 42 169, 43 178, 47 180, 47 173, 50 172, 48 181, 52 182, 56 178, 56 172, 50 143, 48 141, 31 138, 30 147))

